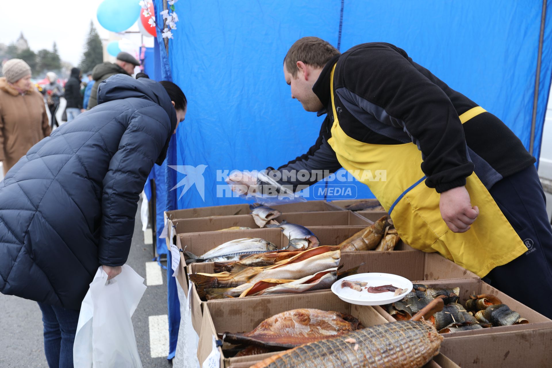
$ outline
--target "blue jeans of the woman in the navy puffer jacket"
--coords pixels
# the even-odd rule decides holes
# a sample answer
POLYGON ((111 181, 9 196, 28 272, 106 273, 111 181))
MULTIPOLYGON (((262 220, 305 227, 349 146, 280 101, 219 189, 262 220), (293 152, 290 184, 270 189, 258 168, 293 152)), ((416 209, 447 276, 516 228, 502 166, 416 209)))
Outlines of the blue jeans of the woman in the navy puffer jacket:
POLYGON ((50 368, 73 367, 79 311, 38 303, 44 323, 44 353, 50 368))

